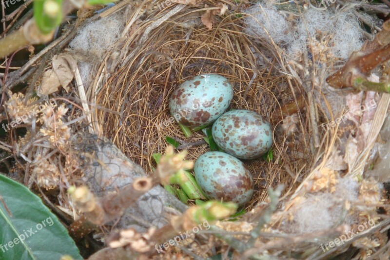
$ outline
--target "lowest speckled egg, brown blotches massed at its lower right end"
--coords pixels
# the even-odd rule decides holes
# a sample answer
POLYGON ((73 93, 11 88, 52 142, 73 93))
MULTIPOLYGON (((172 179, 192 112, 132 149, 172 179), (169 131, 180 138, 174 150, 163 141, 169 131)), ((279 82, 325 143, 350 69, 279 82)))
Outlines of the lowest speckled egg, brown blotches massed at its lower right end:
POLYGON ((232 201, 239 206, 251 200, 254 182, 242 161, 223 152, 207 152, 194 165, 195 180, 212 200, 232 201))

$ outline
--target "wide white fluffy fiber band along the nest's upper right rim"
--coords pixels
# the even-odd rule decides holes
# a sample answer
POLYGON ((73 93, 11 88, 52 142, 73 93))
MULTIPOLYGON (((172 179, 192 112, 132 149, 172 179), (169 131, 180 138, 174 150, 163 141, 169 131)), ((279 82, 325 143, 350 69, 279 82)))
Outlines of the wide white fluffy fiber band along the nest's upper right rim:
POLYGON ((274 5, 257 3, 247 9, 246 32, 252 36, 286 46, 293 58, 307 48, 309 39, 330 36, 328 47, 333 56, 348 59, 352 51, 363 45, 358 20, 351 12, 306 10, 298 20, 287 20, 274 5), (281 44, 282 43, 282 44, 281 44))

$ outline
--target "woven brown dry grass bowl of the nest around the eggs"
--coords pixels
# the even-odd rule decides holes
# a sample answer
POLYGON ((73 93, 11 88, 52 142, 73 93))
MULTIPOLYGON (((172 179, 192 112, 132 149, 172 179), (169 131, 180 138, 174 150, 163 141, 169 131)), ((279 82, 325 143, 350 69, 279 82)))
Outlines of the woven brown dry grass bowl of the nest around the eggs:
POLYGON ((300 129, 299 137, 287 140, 283 132, 277 133, 282 104, 295 104, 294 99, 302 95, 299 84, 286 74, 275 76, 274 72, 284 66, 278 47, 248 37, 242 19, 234 14, 208 29, 200 19, 205 10, 176 6, 148 14, 154 21, 146 18, 127 25, 131 37, 121 43, 122 49, 107 56, 110 59, 119 55, 121 59, 111 67, 110 74, 110 65, 100 67, 92 95, 94 102, 120 116, 95 111, 96 126, 146 172, 156 165, 152 154, 166 148, 165 137, 178 140, 180 148, 188 149, 189 160, 196 160, 208 151, 208 145, 202 142, 200 131, 184 137, 169 113, 170 94, 178 84, 196 75, 225 76, 234 86, 230 108, 255 111, 271 120, 275 128, 273 160, 277 163, 245 161, 255 181, 253 205, 266 198, 269 186, 285 183, 287 189, 292 189, 299 173, 310 169, 312 152, 307 144, 311 130, 305 116, 300 115, 292 125, 300 129), (104 83, 100 84, 100 78, 105 79, 104 83))

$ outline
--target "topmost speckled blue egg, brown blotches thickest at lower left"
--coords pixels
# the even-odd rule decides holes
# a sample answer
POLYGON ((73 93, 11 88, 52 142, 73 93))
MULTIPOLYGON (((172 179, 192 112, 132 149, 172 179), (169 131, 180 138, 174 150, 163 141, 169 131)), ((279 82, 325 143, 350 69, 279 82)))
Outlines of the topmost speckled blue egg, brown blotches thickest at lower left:
POLYGON ((186 80, 172 93, 171 114, 185 126, 198 127, 212 123, 228 108, 233 87, 218 74, 205 74, 186 80))

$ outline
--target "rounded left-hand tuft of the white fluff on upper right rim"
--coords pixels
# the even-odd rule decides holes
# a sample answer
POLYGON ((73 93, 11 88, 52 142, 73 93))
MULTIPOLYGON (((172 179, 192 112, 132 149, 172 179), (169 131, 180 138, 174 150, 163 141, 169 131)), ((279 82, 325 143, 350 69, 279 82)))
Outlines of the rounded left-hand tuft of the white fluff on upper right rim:
POLYGON ((287 42, 290 38, 289 24, 274 6, 257 4, 246 11, 247 33, 275 43, 287 42))

